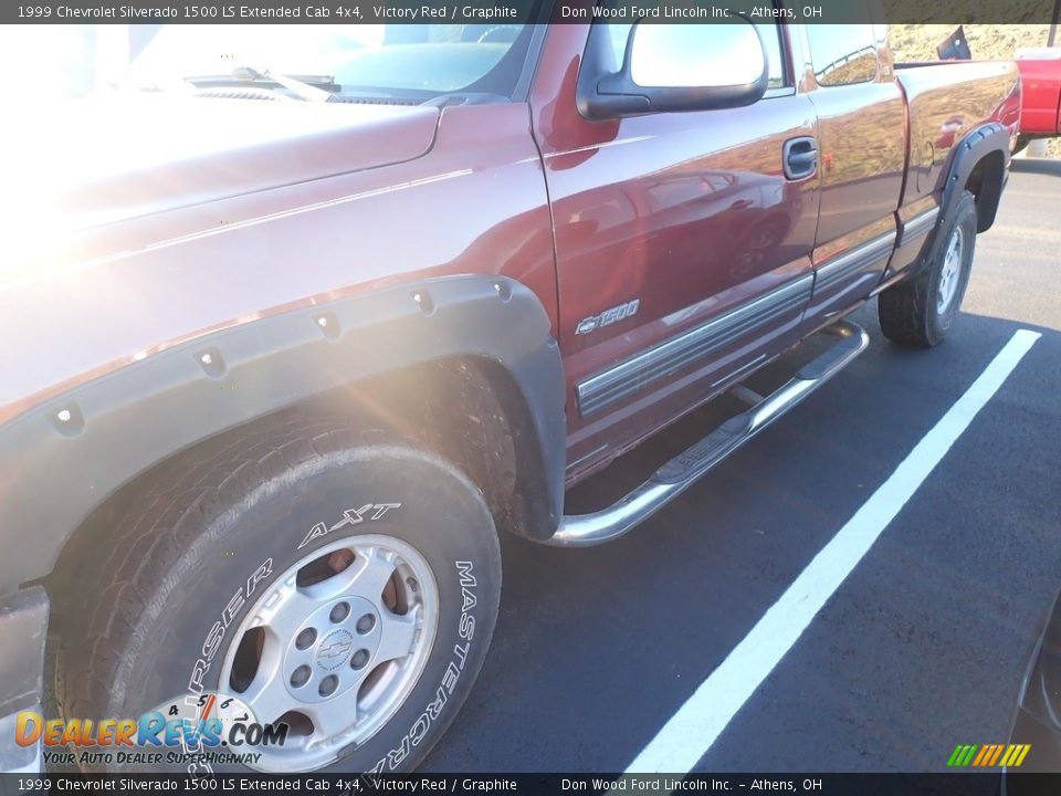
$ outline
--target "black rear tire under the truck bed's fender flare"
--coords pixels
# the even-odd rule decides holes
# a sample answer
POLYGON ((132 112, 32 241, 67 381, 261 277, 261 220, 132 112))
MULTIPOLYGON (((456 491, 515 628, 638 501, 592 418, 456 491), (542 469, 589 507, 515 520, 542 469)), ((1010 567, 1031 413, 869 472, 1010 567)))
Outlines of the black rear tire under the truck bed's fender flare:
POLYGON ((878 316, 884 336, 900 345, 931 348, 946 337, 962 306, 969 283, 973 255, 976 250, 976 197, 963 191, 954 211, 944 219, 932 243, 929 261, 914 279, 901 282, 881 293, 878 300, 878 316), (944 279, 947 252, 957 238, 960 247, 959 269, 949 301, 941 304, 941 285, 944 279))

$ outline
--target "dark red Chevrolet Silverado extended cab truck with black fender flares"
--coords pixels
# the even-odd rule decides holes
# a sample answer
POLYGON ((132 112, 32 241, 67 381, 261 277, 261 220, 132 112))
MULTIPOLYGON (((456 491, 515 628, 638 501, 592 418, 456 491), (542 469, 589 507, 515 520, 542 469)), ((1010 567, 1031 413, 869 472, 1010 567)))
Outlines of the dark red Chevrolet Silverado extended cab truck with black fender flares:
POLYGON ((859 355, 871 298, 895 343, 944 339, 1012 63, 900 70, 870 24, 550 13, 167 27, 120 91, 9 108, 6 769, 217 750, 252 719, 282 743, 154 767, 414 767, 486 656, 500 533, 627 533, 859 355), (565 512, 724 392, 746 408, 565 512))

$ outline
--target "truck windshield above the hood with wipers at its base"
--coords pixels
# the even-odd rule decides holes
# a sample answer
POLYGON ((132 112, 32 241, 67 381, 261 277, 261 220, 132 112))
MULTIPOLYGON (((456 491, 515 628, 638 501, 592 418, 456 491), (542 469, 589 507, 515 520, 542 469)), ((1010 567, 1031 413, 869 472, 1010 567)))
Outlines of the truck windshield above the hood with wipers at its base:
POLYGON ((166 25, 125 85, 188 90, 203 78, 290 75, 342 95, 511 94, 529 30, 522 24, 166 25))

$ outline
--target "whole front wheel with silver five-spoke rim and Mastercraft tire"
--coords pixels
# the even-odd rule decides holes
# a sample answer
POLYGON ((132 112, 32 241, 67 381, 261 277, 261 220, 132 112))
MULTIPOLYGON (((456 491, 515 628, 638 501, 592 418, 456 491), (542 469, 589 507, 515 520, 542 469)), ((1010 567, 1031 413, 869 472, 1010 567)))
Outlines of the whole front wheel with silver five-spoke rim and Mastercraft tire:
POLYGON ((496 620, 498 545, 474 485, 408 447, 291 429, 167 478, 84 562, 94 597, 69 611, 56 664, 66 718, 216 693, 288 725, 282 746, 239 750, 261 754, 252 768, 414 767, 496 620))

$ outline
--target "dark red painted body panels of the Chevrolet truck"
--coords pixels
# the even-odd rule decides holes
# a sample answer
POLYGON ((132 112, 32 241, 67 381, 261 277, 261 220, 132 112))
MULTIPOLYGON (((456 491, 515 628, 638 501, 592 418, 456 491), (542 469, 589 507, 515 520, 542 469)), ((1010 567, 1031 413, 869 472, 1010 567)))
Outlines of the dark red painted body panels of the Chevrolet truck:
POLYGON ((900 81, 882 43, 873 83, 819 87, 796 27, 795 84, 754 105, 587 122, 575 104, 587 30, 548 31, 527 102, 34 109, 0 147, 8 186, 24 186, 7 191, 0 230, 12 252, 0 264, 0 422, 216 329, 497 273, 534 290, 553 321, 574 481, 857 306, 887 256, 599 416, 579 415, 579 380, 932 209, 950 148, 981 121, 1016 132, 1011 64, 900 81), (803 136, 819 169, 786 179, 782 145, 803 136), (633 317, 575 334, 634 298, 633 317))

